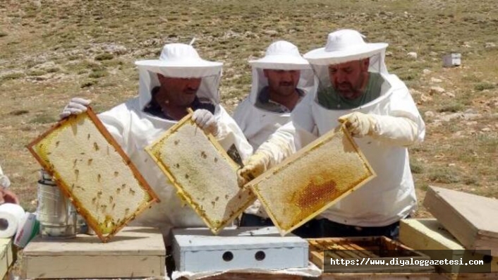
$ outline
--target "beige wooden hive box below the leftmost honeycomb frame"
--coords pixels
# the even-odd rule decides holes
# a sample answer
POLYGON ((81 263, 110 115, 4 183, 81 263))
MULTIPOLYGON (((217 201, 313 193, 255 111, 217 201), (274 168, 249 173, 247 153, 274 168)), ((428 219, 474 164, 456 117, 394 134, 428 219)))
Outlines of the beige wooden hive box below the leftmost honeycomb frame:
POLYGON ((162 277, 166 249, 159 229, 126 227, 109 243, 97 236, 33 239, 23 250, 22 279, 162 277))

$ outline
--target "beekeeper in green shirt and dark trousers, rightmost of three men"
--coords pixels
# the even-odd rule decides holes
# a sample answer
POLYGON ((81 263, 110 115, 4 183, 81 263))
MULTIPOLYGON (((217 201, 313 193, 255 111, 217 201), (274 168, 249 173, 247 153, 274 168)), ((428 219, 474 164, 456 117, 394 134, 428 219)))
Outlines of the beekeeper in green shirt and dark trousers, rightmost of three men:
POLYGON ((399 220, 417 205, 407 147, 423 140, 425 124, 406 85, 387 72, 386 48, 366 43, 356 30, 330 33, 325 47, 304 56, 318 90, 238 172, 242 185, 344 123, 377 177, 310 221, 310 236, 396 238, 399 220))

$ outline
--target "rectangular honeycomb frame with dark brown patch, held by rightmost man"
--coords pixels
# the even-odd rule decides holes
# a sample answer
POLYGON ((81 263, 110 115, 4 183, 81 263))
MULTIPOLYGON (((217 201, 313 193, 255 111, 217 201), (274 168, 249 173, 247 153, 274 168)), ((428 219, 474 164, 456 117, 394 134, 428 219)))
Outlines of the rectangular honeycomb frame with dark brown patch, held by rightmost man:
POLYGON ((246 186, 284 236, 375 176, 349 133, 340 127, 246 186))

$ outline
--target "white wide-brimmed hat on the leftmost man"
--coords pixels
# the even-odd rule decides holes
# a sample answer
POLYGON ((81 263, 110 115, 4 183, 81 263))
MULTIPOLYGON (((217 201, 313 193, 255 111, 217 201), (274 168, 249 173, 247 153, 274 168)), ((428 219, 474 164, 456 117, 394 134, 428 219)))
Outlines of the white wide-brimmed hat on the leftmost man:
POLYGON ((218 75, 223 63, 201 59, 188 44, 166 44, 159 59, 135 61, 140 69, 175 78, 202 78, 218 75))

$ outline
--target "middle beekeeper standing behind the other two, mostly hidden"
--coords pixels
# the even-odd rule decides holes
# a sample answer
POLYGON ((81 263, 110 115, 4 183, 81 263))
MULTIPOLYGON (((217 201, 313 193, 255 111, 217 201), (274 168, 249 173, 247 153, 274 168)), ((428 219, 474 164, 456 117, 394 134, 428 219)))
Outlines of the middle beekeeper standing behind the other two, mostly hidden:
MULTIPOLYGON (((253 68, 250 93, 233 114, 254 150, 272 133, 291 120, 291 111, 315 89, 315 74, 308 61, 291 42, 269 45, 262 59, 249 61, 253 68)), ((245 210, 241 226, 270 226, 260 201, 245 210)))

